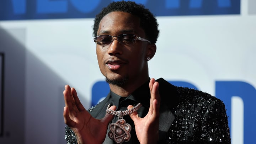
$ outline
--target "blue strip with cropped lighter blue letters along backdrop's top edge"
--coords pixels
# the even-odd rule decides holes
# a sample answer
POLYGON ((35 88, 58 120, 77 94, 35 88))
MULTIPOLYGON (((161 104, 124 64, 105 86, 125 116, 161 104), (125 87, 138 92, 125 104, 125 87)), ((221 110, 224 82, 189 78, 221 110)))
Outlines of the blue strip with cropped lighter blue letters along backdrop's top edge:
MULTIPOLYGON (((119 0, 1 0, 0 20, 92 18, 119 0)), ((155 16, 240 14, 240 0, 134 0, 155 16)))

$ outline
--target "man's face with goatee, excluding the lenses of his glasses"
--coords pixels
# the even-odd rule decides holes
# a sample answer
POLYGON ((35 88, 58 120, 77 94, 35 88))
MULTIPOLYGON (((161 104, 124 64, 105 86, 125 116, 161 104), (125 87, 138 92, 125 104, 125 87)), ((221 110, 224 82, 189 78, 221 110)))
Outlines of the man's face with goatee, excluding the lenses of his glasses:
MULTIPOLYGON (((145 32, 139 26, 138 17, 127 12, 111 12, 102 18, 97 35, 134 34, 145 38, 145 32)), ((110 81, 126 79, 124 84, 148 79, 148 64, 146 62, 148 45, 148 42, 137 40, 136 43, 126 46, 114 40, 108 49, 102 49, 100 44, 96 44, 101 73, 110 81)))

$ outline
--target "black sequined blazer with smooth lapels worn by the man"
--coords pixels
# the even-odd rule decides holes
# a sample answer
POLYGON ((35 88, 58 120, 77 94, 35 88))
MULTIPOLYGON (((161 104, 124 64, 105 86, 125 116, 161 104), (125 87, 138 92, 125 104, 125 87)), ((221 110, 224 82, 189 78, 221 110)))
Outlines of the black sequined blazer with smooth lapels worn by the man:
MULTIPOLYGON (((199 90, 176 87, 160 78, 161 96, 159 117, 160 144, 230 144, 228 118, 224 103, 199 90)), ((148 87, 148 86, 147 86, 148 87)), ((150 90, 146 92, 150 95, 150 90)), ((88 111, 95 118, 104 113, 109 95, 88 111)), ((77 143, 73 131, 66 127, 67 144, 77 143)), ((112 140, 106 138, 106 144, 112 140)))

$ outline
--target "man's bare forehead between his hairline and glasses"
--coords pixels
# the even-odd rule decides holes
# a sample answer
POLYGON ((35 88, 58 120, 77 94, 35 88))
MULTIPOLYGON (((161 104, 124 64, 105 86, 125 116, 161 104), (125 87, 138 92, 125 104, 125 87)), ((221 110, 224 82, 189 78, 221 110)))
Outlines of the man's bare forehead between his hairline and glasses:
POLYGON ((110 12, 102 18, 97 34, 116 35, 125 32, 144 33, 140 28, 140 18, 127 12, 110 12))

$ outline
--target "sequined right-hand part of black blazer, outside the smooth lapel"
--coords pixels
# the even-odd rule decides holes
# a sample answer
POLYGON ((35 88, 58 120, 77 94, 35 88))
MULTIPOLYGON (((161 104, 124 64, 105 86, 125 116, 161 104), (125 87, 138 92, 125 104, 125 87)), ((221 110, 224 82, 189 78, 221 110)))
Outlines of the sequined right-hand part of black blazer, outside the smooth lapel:
POLYGON ((170 141, 230 143, 224 103, 206 92, 176 88, 180 99, 174 109, 175 121, 169 131, 170 141))

